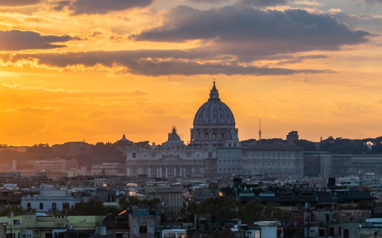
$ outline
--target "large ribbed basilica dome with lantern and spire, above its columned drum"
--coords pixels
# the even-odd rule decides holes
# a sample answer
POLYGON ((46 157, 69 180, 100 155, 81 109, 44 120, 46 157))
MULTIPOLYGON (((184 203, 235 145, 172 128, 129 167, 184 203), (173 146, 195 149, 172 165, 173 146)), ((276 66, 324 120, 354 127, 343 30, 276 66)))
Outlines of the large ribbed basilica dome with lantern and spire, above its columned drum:
POLYGON ((231 124, 235 125, 235 118, 231 109, 220 101, 215 81, 210 91, 210 97, 196 112, 193 125, 231 124))

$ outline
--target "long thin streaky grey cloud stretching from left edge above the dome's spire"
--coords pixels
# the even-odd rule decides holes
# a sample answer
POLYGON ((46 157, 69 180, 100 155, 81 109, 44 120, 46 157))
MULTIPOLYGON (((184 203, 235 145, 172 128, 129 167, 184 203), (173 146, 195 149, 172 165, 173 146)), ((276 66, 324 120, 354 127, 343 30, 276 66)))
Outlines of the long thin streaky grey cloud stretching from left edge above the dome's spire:
MULTIPOLYGON (((269 68, 244 66, 237 61, 196 62, 200 58, 208 58, 206 53, 186 52, 180 50, 136 50, 136 51, 93 51, 44 54, 3 55, 3 61, 16 62, 23 59, 37 59, 40 64, 54 67, 84 65, 87 67, 104 65, 113 67, 124 66, 122 73, 132 73, 148 76, 159 75, 283 75, 294 73, 320 73, 327 70, 269 68)), ((212 56, 210 56, 212 57, 212 56)), ((121 73, 121 72, 120 72, 121 73)))

